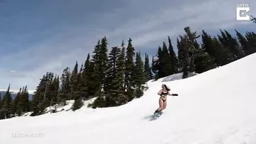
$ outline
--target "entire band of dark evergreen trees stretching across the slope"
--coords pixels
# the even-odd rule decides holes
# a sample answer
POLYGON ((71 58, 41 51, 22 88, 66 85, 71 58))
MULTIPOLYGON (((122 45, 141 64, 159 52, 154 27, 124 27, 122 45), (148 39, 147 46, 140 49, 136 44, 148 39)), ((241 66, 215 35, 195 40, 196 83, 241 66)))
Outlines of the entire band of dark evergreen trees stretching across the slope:
POLYGON ((210 36, 205 30, 201 34, 184 28, 184 34, 177 37, 178 53, 174 52, 173 42, 163 41, 156 55, 144 56, 136 51, 133 40, 124 41, 120 46, 107 47, 107 37, 98 40, 92 54, 88 53, 85 62, 75 62, 73 69, 66 67, 62 75, 46 72, 31 101, 28 100, 27 86, 21 88, 12 100, 9 89, 1 98, 0 119, 33 112, 31 116, 43 114, 46 107, 66 104, 74 100, 72 110, 83 106, 83 101, 96 98, 88 107, 116 107, 140 98, 146 89, 146 82, 157 80, 175 73, 183 73, 183 78, 191 72, 202 73, 218 66, 241 59, 256 52, 256 34, 252 31, 242 35, 235 30, 232 37, 227 30, 210 36), (201 43, 198 41, 201 40, 201 43))

